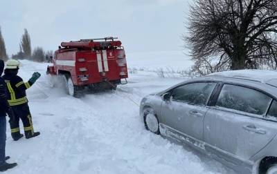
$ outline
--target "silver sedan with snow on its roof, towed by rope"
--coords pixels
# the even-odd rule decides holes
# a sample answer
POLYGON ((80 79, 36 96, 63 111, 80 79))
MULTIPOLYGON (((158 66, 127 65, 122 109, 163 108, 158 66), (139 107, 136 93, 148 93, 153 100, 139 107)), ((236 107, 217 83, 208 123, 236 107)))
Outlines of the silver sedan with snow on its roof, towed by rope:
POLYGON ((277 173, 277 72, 238 70, 184 81, 141 101, 145 128, 238 173, 277 173))

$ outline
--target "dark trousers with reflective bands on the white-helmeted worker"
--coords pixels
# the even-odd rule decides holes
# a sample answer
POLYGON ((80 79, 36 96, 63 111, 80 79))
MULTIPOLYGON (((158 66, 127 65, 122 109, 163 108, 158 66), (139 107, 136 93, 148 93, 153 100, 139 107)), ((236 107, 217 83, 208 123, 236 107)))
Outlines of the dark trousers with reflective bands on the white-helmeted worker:
POLYGON ((30 115, 30 109, 28 104, 21 104, 18 106, 12 106, 14 118, 10 118, 10 131, 12 138, 16 139, 20 137, 19 119, 21 119, 24 126, 25 137, 30 137, 34 134, 32 117, 30 115))

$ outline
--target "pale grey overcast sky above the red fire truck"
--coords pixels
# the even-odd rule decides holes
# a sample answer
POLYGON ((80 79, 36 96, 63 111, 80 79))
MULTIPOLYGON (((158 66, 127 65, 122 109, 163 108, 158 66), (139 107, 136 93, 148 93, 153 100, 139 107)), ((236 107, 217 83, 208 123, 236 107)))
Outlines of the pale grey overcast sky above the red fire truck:
POLYGON ((128 52, 181 50, 188 0, 1 0, 0 26, 8 54, 24 28, 32 47, 56 50, 62 41, 119 37, 128 52))

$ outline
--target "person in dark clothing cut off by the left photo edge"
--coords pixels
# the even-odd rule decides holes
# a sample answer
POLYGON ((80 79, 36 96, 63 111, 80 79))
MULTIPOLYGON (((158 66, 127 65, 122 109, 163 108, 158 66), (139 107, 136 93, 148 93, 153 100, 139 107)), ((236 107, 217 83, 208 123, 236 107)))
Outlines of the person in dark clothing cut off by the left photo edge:
POLYGON ((9 168, 17 166, 17 163, 9 164, 6 162, 10 157, 6 157, 6 113, 13 117, 12 110, 6 99, 6 83, 1 77, 3 73, 4 62, 0 59, 0 171, 6 171, 9 168))

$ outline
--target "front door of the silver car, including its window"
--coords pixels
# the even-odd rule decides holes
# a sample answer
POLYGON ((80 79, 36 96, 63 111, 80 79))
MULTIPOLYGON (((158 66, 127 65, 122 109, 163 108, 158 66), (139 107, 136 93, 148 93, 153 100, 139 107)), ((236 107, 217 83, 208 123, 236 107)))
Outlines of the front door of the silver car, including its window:
POLYGON ((163 101, 161 113, 166 126, 203 140, 203 121, 206 104, 215 82, 197 82, 172 89, 170 101, 163 101))

